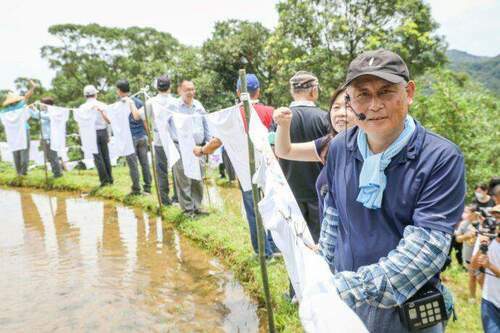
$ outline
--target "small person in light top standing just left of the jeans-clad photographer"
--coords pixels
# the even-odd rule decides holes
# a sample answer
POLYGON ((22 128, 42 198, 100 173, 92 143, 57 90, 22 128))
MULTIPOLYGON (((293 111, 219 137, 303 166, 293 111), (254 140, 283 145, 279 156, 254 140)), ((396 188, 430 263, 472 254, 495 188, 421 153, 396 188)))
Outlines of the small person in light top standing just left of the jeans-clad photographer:
POLYGON ((469 303, 476 302, 476 285, 478 283, 477 272, 470 269, 472 250, 476 243, 479 229, 479 215, 474 211, 473 206, 467 206, 462 214, 462 221, 455 230, 455 238, 462 244, 462 258, 469 273, 469 303))

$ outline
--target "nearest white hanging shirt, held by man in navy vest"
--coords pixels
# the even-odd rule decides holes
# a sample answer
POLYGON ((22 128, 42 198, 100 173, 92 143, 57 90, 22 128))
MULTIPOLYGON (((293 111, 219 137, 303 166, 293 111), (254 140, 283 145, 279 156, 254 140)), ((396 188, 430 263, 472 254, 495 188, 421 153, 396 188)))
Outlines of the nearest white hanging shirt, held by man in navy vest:
POLYGON ((299 315, 306 332, 367 332, 356 314, 339 297, 326 261, 306 243, 309 233, 295 198, 274 183, 275 174, 266 168, 264 199, 259 212, 281 250, 290 281, 299 298, 299 315), (321 306, 318 306, 321 304, 321 306))

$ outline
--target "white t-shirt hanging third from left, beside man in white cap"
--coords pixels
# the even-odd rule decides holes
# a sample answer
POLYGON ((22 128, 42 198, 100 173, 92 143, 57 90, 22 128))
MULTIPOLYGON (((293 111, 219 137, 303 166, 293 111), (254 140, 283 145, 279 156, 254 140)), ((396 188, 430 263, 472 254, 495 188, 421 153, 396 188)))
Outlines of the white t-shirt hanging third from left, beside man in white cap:
POLYGON ((97 134, 95 128, 95 118, 97 116, 92 105, 83 104, 77 110, 73 111, 75 121, 78 123, 78 132, 85 159, 92 159, 93 154, 97 154, 97 134))

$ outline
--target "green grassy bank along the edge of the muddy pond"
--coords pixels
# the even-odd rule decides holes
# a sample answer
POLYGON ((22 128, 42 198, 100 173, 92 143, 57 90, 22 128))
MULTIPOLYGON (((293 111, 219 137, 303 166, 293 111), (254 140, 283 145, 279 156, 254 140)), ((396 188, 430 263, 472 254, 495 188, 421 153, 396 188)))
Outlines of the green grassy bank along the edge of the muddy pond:
MULTIPOLYGON (((127 196, 130 192, 130 178, 126 167, 113 168, 115 184, 98 188, 95 170, 72 171, 62 178, 50 179, 50 188, 60 191, 88 193, 90 196, 122 202, 129 206, 141 207, 149 212, 157 212, 156 196, 127 196)), ((42 169, 30 171, 27 177, 18 178, 10 165, 0 162, 0 184, 45 188, 45 176, 42 169)), ((260 304, 260 311, 265 311, 262 298, 260 269, 252 256, 248 226, 241 214, 241 195, 234 185, 217 181, 219 206, 211 209, 211 214, 195 220, 187 219, 177 207, 167 207, 161 212, 164 223, 174 224, 185 236, 196 241, 200 247, 219 257, 226 267, 234 272, 236 278, 260 304)), ((215 198, 212 197, 214 206, 215 198)), ((279 331, 301 332, 297 307, 283 299, 288 291, 288 279, 283 261, 276 260, 268 265, 269 282, 273 298, 275 322, 279 331)), ((451 287, 456 300, 459 320, 451 321, 447 332, 481 332, 478 304, 467 302, 467 274, 457 265, 452 265, 443 276, 451 287)), ((478 295, 480 290, 478 290, 478 295)), ((261 313, 261 318, 265 315, 261 313)))

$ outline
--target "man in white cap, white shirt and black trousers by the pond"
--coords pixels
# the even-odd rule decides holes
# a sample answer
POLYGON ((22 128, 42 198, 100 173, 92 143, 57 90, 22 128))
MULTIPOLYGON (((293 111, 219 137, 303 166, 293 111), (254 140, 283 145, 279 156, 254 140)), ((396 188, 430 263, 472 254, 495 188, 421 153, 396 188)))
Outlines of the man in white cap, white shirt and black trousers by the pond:
POLYGON ((87 85, 83 88, 83 95, 87 101, 80 108, 87 108, 89 112, 96 112, 95 129, 97 139, 97 154, 94 154, 94 163, 99 174, 101 186, 113 184, 113 174, 111 171, 111 160, 109 158, 109 133, 108 124, 110 123, 106 116, 106 104, 97 100, 97 89, 93 85, 87 85))

